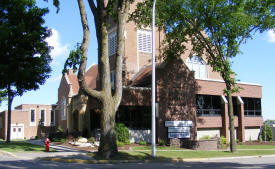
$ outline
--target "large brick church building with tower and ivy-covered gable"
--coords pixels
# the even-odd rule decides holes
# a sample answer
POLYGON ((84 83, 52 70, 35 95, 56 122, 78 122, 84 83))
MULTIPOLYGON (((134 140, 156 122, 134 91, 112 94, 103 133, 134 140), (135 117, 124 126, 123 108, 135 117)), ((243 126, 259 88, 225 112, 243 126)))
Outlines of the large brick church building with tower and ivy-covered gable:
MULTIPOLYGON (((133 11, 135 5, 131 6, 133 11)), ((116 26, 108 29, 111 83, 115 84, 116 26)), ((156 32, 156 55, 164 34, 156 32)), ((133 22, 125 25, 123 62, 123 97, 116 121, 130 129, 131 142, 150 142, 151 128, 151 30, 138 29, 133 22)), ((190 49, 191 46, 188 46, 190 49)), ((98 66, 86 71, 86 82, 97 88, 98 66)), ((239 141, 257 140, 263 125, 261 112, 262 86, 238 83, 243 89, 233 95, 235 132, 239 141)), ((219 73, 207 64, 206 57, 186 51, 169 62, 162 59, 156 66, 157 140, 168 139, 166 121, 192 121, 191 140, 208 135, 229 138, 228 101, 225 83, 219 73)), ((78 93, 76 74, 69 70, 61 79, 55 110, 57 125, 69 132, 100 128, 100 103, 78 93)))

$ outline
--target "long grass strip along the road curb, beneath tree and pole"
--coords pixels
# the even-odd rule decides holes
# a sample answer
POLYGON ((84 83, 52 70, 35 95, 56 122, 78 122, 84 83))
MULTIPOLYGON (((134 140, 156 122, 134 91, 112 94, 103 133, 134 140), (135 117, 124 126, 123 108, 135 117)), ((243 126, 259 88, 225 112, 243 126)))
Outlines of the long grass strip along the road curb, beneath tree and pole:
MULTIPOLYGON (((234 157, 234 156, 256 156, 256 155, 271 155, 275 154, 275 150, 239 150, 236 153, 229 151, 158 151, 157 159, 171 160, 171 159, 192 159, 192 158, 214 158, 214 157, 234 157)), ((104 160, 96 153, 89 153, 90 156, 97 160, 104 160)), ((119 152, 112 160, 150 160, 150 151, 128 151, 119 152)))

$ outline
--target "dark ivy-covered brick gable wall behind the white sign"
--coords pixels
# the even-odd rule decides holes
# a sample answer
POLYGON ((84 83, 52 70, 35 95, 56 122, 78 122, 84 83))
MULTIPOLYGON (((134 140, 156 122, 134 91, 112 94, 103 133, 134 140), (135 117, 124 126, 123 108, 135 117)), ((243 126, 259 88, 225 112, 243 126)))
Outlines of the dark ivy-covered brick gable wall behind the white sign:
POLYGON ((165 63, 157 70, 157 102, 159 103, 158 137, 167 140, 165 121, 191 120, 191 139, 197 131, 195 101, 198 90, 193 72, 181 59, 165 63))

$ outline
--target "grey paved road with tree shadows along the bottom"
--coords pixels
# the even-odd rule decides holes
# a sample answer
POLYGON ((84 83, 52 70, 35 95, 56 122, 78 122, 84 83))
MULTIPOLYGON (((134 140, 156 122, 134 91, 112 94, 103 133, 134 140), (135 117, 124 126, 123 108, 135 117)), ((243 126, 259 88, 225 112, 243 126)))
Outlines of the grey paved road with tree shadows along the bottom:
POLYGON ((274 157, 263 158, 238 158, 208 160, 202 162, 184 163, 134 163, 134 164, 73 164, 48 162, 39 160, 16 159, 6 154, 0 154, 1 169, 52 169, 52 168, 72 168, 72 169, 274 169, 274 157))

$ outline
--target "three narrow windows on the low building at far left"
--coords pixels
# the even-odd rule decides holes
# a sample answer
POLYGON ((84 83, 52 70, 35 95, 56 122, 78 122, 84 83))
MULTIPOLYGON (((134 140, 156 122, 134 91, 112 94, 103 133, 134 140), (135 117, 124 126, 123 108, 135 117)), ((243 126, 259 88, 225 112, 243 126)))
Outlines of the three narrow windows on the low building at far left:
MULTIPOLYGON (((51 110, 51 125, 55 125, 55 112, 54 110, 51 110)), ((40 110, 40 125, 44 126, 46 122, 46 112, 45 110, 40 110)), ((36 113, 34 109, 31 109, 30 111, 30 126, 36 126, 36 113)))

